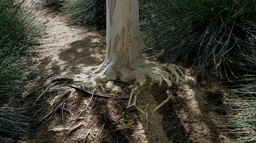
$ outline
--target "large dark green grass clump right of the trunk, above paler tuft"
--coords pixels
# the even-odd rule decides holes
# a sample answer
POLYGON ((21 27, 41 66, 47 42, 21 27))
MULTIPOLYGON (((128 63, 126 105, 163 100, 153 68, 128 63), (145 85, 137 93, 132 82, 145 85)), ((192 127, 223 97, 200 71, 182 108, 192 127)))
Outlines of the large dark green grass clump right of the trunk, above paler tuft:
POLYGON ((222 78, 233 76, 239 65, 252 68, 248 59, 255 57, 253 0, 163 0, 152 8, 155 16, 141 23, 148 54, 165 62, 190 62, 203 74, 215 70, 222 78))

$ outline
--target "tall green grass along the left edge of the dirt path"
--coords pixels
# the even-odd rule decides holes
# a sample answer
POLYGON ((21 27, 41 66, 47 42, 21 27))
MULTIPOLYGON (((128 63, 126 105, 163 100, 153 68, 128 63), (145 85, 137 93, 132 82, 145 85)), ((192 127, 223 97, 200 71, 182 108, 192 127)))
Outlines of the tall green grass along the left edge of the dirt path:
POLYGON ((39 34, 37 10, 25 1, 0 1, 0 142, 15 142, 31 133, 36 123, 31 101, 23 99, 27 63, 23 58, 39 34))

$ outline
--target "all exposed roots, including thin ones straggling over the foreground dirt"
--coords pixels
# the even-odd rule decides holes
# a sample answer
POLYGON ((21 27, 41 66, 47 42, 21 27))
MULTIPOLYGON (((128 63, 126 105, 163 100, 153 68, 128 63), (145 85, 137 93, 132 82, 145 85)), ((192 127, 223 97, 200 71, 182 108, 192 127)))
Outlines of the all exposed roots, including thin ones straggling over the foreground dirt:
MULTIPOLYGON (((110 62, 103 62, 96 70, 94 70, 92 73, 89 75, 84 75, 84 74, 72 74, 72 75, 67 75, 67 76, 57 76, 57 77, 52 77, 46 82, 46 89, 41 92, 41 94, 38 96, 37 100, 41 99, 42 96, 47 93, 47 92, 55 92, 56 96, 54 99, 51 101, 51 105, 55 105, 54 109, 50 111, 50 113, 45 117, 48 118, 48 116, 51 115, 53 116, 53 113, 60 107, 62 107, 62 121, 64 122, 64 112, 63 108, 67 107, 66 101, 72 98, 75 93, 76 89, 82 89, 86 90, 87 88, 93 88, 94 90, 92 91, 92 97, 94 95, 97 95, 95 93, 97 88, 100 88, 103 92, 105 89, 112 90, 116 93, 122 92, 121 87, 118 87, 117 85, 114 85, 114 81, 118 80, 121 83, 127 83, 134 81, 135 83, 131 85, 131 94, 129 98, 129 103, 126 108, 130 107, 135 107, 139 112, 141 112, 143 115, 145 115, 146 120, 147 120, 147 125, 146 125, 146 132, 148 136, 148 123, 151 125, 156 125, 150 119, 148 119, 148 112, 147 112, 147 107, 145 110, 142 110, 139 108, 136 103, 137 103, 137 96, 140 93, 139 88, 142 87, 146 82, 148 81, 147 78, 150 79, 150 85, 153 84, 158 84, 161 86, 162 82, 166 82, 169 87, 172 86, 172 81, 169 77, 169 73, 164 71, 162 68, 166 67, 176 78, 177 84, 179 81, 189 81, 195 79, 191 78, 190 76, 186 75, 187 70, 182 69, 176 65, 168 64, 168 65, 160 65, 156 62, 151 62, 147 61, 144 59, 138 60, 138 63, 133 63, 130 66, 113 66, 113 63, 110 62), (183 72, 184 71, 184 72, 183 72), (113 80, 114 79, 114 80, 113 80), (69 80, 72 85, 68 85, 67 83, 63 83, 61 85, 56 85, 56 81, 58 80, 69 80), (106 83, 108 82, 108 83, 106 83), (106 83, 106 84, 104 84, 106 83), (103 87, 105 85, 105 87, 103 87), (76 87, 76 88, 74 88, 76 87), (132 98, 134 96, 133 103, 132 98)), ((170 100, 170 96, 166 100, 164 100, 160 105, 158 105, 153 111, 153 116, 154 112, 158 110, 160 107, 162 107, 165 103, 167 103, 170 100)), ((80 111, 78 111, 75 115, 76 118, 75 120, 84 120, 83 117, 80 117, 80 115, 88 110, 89 104, 91 104, 92 99, 88 104, 86 104, 86 107, 80 111)), ((94 104, 93 104, 94 105, 94 104)), ((92 107, 93 107, 92 105, 92 107)), ((91 107, 91 108, 92 108, 91 107)), ((71 113, 71 112, 70 112, 71 113)), ((50 118, 51 118, 50 117, 50 118)), ((89 119, 90 120, 90 119, 89 119)), ((83 126, 84 123, 81 122, 78 125, 74 127, 69 127, 69 128, 54 128, 49 131, 53 132, 60 132, 60 131, 67 131, 65 136, 63 136, 63 140, 74 130, 80 128, 83 126)), ((102 131, 102 130, 101 130, 102 131)))

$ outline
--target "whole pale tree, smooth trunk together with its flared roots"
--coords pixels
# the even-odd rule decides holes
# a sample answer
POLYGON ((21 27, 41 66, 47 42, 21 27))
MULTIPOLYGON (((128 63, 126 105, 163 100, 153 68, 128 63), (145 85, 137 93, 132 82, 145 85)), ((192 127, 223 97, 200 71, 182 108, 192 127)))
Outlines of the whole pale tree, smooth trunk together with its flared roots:
MULTIPOLYGON (((150 84, 158 83, 161 85, 162 81, 165 81, 170 87, 172 81, 169 79, 169 74, 162 70, 161 67, 163 66, 166 65, 142 58, 138 0, 106 0, 106 57, 104 62, 89 75, 75 74, 49 79, 46 82, 47 89, 42 92, 38 99, 48 90, 58 92, 58 96, 54 98, 53 102, 59 102, 67 94, 73 96, 75 91, 71 87, 52 85, 54 81, 60 79, 73 80, 79 88, 100 87, 103 91, 104 84, 102 83, 111 79, 119 79, 123 82, 134 81, 133 92, 139 89, 138 86, 141 87, 146 84, 147 78, 151 79, 150 84)), ((168 64, 166 68, 175 75, 177 83, 179 80, 185 81, 176 71, 177 66, 168 64)), ((181 69, 178 71, 183 75, 181 69)), ((114 85, 113 81, 109 81, 105 88, 121 92, 121 87, 114 85)))

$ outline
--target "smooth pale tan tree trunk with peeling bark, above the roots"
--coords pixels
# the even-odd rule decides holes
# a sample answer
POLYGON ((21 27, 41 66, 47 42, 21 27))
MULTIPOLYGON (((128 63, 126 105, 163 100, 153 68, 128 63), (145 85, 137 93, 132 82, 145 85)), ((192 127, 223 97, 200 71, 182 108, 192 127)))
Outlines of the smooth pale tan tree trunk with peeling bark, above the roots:
MULTIPOLYGON (((138 0, 106 0, 106 61, 133 66, 142 57, 138 0)), ((137 65, 137 64, 136 64, 137 65)))

